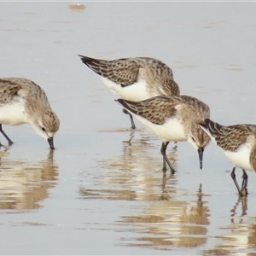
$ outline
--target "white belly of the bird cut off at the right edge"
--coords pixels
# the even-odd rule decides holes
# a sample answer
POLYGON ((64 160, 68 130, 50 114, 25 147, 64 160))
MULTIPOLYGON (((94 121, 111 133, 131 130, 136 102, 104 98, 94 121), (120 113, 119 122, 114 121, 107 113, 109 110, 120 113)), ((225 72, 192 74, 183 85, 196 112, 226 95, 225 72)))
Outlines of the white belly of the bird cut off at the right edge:
POLYGON ((251 147, 248 143, 241 146, 236 152, 224 151, 224 154, 234 166, 253 171, 253 166, 250 164, 251 147))

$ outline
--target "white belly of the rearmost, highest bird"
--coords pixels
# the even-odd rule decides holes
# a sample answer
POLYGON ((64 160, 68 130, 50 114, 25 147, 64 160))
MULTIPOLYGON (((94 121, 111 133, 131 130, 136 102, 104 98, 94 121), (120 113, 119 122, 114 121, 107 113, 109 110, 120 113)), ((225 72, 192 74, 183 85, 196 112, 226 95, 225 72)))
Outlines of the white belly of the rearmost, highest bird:
POLYGON ((148 90, 145 80, 141 80, 135 84, 122 87, 120 84, 113 83, 111 80, 103 78, 102 81, 108 86, 112 92, 126 101, 140 102, 150 97, 158 96, 154 92, 148 90))

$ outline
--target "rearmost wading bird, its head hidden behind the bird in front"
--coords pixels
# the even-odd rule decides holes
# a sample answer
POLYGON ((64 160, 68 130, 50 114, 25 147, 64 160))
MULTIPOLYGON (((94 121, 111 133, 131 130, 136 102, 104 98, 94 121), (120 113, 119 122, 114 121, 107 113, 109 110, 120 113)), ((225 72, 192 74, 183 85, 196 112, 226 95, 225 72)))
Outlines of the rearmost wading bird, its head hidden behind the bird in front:
MULTIPOLYGON (((103 83, 115 95, 124 100, 141 102, 154 96, 178 96, 180 93, 172 69, 162 61, 147 57, 107 61, 79 56, 86 66, 102 77, 103 83)), ((128 114, 131 127, 135 129, 131 113, 128 114)))

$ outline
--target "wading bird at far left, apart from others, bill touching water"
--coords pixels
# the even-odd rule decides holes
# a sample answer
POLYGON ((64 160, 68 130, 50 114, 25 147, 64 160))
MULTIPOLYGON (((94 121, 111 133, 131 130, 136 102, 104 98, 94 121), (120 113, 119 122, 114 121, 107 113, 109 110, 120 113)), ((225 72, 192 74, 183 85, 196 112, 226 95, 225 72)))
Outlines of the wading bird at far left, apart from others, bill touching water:
POLYGON ((2 125, 26 123, 31 124, 54 149, 53 137, 59 130, 60 120, 50 108, 44 90, 29 79, 0 79, 0 132, 9 144, 13 142, 3 131, 2 125))

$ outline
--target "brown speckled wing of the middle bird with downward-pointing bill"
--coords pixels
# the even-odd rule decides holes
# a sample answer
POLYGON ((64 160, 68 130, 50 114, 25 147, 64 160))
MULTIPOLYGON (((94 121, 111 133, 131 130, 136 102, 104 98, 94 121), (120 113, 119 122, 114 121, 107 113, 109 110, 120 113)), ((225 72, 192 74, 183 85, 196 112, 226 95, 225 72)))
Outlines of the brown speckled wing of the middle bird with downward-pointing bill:
POLYGON ((175 108, 177 101, 174 97, 173 100, 172 97, 157 96, 143 102, 130 102, 123 99, 117 101, 127 110, 156 125, 164 124, 166 119, 174 117, 177 113, 175 108))

